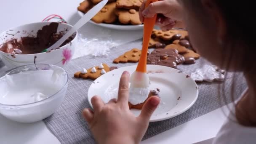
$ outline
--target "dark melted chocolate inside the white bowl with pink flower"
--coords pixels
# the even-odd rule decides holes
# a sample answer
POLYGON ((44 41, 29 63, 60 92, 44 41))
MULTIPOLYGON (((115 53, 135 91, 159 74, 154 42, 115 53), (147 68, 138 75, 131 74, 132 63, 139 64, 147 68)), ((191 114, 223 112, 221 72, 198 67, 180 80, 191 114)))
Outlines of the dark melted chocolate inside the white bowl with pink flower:
MULTIPOLYGON (((42 27, 37 31, 36 37, 21 37, 18 39, 9 40, 0 46, 0 51, 14 54, 34 54, 41 53, 44 49, 49 48, 58 41, 65 32, 57 33, 59 23, 52 22, 49 25, 42 27)), ((70 36, 61 46, 71 42, 75 34, 70 36)))

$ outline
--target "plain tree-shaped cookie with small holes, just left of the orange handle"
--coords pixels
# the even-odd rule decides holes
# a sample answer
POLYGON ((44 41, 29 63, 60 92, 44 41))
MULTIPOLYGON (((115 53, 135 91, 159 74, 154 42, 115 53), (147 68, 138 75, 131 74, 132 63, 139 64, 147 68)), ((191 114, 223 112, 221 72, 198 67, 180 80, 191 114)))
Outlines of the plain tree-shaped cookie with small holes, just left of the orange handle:
POLYGON ((131 51, 125 52, 122 56, 119 56, 113 61, 113 63, 127 63, 127 62, 138 62, 141 57, 141 50, 133 48, 131 51))

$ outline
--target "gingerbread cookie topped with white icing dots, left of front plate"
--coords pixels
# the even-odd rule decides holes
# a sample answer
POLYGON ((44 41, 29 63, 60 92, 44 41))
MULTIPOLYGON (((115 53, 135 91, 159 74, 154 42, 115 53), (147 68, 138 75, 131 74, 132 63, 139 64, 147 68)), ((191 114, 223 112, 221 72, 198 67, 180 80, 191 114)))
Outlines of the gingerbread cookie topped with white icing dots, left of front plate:
POLYGON ((82 71, 76 72, 74 77, 95 80, 109 71, 110 69, 107 64, 100 64, 98 67, 91 67, 90 69, 83 68, 82 71))

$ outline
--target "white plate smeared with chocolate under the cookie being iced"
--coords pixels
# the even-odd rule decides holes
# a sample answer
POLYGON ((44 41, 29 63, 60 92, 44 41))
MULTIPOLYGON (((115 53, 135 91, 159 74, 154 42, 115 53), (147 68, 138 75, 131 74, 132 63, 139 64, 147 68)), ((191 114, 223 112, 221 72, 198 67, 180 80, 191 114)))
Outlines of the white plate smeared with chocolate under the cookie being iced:
MULTIPOLYGON (((110 99, 117 98, 121 74, 125 70, 131 74, 135 69, 136 65, 122 67, 97 78, 88 90, 88 101, 91 107, 91 98, 95 95, 100 96, 105 103, 110 99)), ((178 69, 159 65, 147 65, 147 70, 151 83, 150 90, 159 88, 160 92, 158 94, 161 99, 160 105, 150 118, 150 122, 166 120, 180 115, 197 100, 197 84, 187 74, 178 69)), ((131 109, 131 112, 134 115, 139 115, 141 110, 131 109)))

